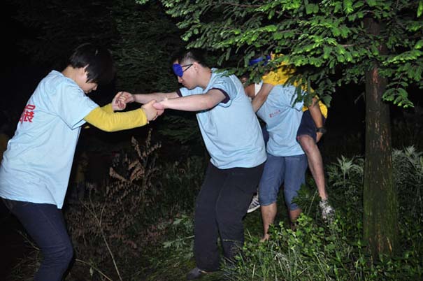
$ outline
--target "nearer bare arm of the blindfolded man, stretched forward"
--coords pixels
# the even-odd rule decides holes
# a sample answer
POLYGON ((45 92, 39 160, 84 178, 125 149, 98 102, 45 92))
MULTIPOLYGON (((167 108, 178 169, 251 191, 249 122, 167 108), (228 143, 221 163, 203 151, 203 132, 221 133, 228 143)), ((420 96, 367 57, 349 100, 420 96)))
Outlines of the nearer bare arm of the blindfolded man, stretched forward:
POLYGON ((155 103, 157 109, 176 109, 185 111, 200 111, 215 107, 226 96, 218 89, 210 89, 206 94, 193 94, 191 96, 182 96, 175 99, 164 99, 155 103))

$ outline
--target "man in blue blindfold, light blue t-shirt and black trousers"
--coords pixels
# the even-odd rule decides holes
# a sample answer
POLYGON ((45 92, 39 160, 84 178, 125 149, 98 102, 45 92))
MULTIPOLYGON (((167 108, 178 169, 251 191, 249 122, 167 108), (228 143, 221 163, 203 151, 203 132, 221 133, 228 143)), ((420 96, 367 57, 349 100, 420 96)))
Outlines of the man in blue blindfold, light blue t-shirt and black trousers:
POLYGON ((187 275, 192 280, 219 268, 219 236, 228 260, 242 247, 242 219, 259 183, 266 151, 259 120, 235 75, 210 69, 196 50, 178 53, 173 71, 184 87, 169 93, 134 94, 127 102, 156 99, 159 110, 196 112, 211 159, 196 199, 196 268, 187 275))

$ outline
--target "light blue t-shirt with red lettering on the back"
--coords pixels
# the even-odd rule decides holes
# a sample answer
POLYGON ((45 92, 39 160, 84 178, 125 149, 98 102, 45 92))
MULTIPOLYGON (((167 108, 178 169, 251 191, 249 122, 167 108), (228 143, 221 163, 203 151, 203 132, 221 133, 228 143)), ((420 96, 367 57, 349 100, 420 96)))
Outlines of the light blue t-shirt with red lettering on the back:
POLYGON ((36 87, 0 166, 0 197, 62 208, 83 118, 98 107, 51 71, 36 87))

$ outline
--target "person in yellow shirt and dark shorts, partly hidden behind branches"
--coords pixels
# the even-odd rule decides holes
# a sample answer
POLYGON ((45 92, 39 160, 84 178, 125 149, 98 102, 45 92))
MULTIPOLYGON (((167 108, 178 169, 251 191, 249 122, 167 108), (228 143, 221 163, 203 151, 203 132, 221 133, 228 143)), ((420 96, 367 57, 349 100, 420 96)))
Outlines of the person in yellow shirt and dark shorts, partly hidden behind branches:
MULTIPOLYGON (((273 58, 274 56, 264 56, 252 59, 250 65, 259 62, 266 64, 266 60, 273 58)), ((287 65, 282 65, 278 69, 266 73, 266 75, 263 76, 263 85, 261 85, 261 89, 257 92, 257 95, 254 96, 254 99, 252 99, 254 111, 257 112, 257 110, 259 110, 275 85, 285 85, 287 80, 294 73, 294 67, 287 65)), ((294 83, 294 86, 297 85, 294 83)), ((313 89, 311 90, 313 91, 313 89)), ((317 142, 320 141, 320 138, 322 138, 323 134, 326 132, 324 122, 326 121, 327 113, 327 106, 325 106, 322 101, 318 100, 317 96, 313 97, 311 104, 303 106, 303 117, 301 118, 301 124, 297 131, 297 141, 299 141, 303 151, 307 155, 308 167, 316 182, 317 191, 320 196, 319 206, 324 220, 330 220, 334 216, 334 208, 329 204, 326 191, 322 154, 320 154, 319 147, 317 146, 317 142), (320 110, 310 110, 316 107, 320 108, 320 110)))

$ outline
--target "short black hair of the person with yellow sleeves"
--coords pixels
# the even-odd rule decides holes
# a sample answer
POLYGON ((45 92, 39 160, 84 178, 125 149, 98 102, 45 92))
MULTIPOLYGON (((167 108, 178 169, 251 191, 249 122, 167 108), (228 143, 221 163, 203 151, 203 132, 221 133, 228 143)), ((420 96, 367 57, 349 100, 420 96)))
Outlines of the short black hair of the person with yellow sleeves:
POLYGON ((87 82, 107 84, 115 77, 112 55, 103 47, 84 43, 76 47, 69 64, 77 69, 87 66, 87 82))

